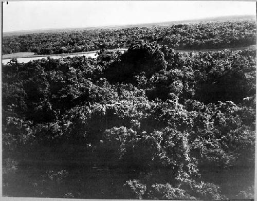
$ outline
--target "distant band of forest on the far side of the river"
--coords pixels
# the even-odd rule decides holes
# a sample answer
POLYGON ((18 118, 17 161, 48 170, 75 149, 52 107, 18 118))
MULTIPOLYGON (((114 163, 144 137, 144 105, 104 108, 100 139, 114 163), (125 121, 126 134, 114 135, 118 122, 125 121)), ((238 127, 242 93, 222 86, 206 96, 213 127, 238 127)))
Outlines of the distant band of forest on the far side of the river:
POLYGON ((102 48, 129 47, 141 41, 156 42, 159 45, 167 45, 176 49, 255 45, 256 24, 253 20, 244 20, 5 36, 2 52, 3 54, 16 52, 73 53, 102 48))

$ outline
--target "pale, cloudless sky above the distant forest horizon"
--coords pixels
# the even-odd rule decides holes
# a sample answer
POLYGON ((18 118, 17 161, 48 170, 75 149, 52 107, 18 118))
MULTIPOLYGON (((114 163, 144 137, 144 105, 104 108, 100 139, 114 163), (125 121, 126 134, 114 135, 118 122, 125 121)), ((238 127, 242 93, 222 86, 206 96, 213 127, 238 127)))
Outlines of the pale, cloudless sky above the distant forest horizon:
POLYGON ((3 5, 3 32, 129 25, 255 13, 255 2, 9 2, 3 5))

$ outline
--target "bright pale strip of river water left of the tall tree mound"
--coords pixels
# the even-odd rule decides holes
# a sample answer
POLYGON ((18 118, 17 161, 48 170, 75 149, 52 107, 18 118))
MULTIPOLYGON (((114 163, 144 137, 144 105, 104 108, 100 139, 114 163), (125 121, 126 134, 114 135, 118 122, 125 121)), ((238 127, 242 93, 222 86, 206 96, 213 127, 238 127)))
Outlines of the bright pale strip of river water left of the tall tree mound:
MULTIPOLYGON (((124 53, 124 50, 119 50, 121 53, 124 53)), ((97 58, 96 52, 89 52, 89 53, 78 53, 78 54, 64 54, 64 55, 58 55, 58 56, 43 56, 43 57, 28 57, 28 58, 17 58, 17 61, 22 63, 27 63, 32 60, 39 60, 39 59, 47 59, 47 57, 50 57, 52 59, 59 59, 59 58, 66 58, 66 57, 82 57, 85 56, 87 58, 97 58)), ((11 59, 3 59, 2 63, 7 64, 11 59)))

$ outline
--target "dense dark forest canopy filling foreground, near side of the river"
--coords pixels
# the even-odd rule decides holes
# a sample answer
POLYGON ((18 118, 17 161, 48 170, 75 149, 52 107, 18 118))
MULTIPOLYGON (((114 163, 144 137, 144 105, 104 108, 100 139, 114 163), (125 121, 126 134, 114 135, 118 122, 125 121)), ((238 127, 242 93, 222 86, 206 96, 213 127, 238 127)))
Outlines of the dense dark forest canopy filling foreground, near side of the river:
POLYGON ((143 43, 97 59, 10 61, 2 67, 4 193, 253 198, 255 55, 143 43))

